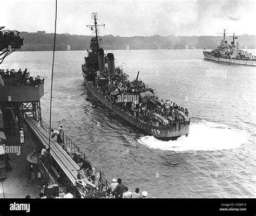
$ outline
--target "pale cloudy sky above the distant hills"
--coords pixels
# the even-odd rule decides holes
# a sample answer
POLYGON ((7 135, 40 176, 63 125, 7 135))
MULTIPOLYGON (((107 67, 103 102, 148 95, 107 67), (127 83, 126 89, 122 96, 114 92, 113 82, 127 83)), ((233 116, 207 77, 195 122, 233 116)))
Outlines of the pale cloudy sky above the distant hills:
MULTIPOLYGON (((98 13, 100 35, 218 36, 224 29, 254 34, 256 0, 58 0, 57 33, 91 35, 98 13)), ((55 0, 0 0, 0 26, 27 32, 54 32, 55 0)))

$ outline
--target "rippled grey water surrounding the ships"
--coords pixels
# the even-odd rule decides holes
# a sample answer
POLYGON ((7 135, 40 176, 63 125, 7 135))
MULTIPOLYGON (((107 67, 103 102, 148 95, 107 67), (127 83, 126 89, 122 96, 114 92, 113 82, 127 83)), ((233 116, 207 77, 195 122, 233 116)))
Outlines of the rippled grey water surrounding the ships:
MULTIPOLYGON (((84 51, 56 52, 53 125, 65 133, 108 179, 121 177, 157 198, 255 198, 255 67, 203 60, 201 50, 113 51, 159 98, 188 108, 188 137, 163 142, 145 136, 87 92, 84 51), (207 77, 207 69, 226 70, 207 77)), ((254 53, 255 54, 255 53, 254 53)), ((16 52, 2 68, 51 69, 51 52, 16 52)), ((42 98, 49 119, 50 80, 42 98)))

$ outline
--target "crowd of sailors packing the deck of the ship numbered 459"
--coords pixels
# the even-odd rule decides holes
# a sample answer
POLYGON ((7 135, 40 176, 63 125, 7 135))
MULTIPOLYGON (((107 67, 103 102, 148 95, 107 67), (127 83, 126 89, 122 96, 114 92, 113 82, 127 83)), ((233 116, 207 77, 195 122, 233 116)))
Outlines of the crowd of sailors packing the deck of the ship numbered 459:
MULTIPOLYGON (((96 85, 95 82, 89 81, 93 87, 95 87, 99 92, 105 97, 105 99, 113 99, 115 94, 129 94, 129 95, 139 95, 146 90, 149 90, 145 86, 143 88, 133 88, 129 87, 129 83, 121 79, 115 79, 114 77, 109 78, 106 72, 100 74, 100 79, 105 80, 105 84, 101 87, 96 85), (109 89, 112 89, 110 92, 109 89)), ((129 112, 131 115, 138 119, 142 119, 144 122, 159 122, 164 126, 171 126, 176 123, 186 123, 186 117, 188 117, 188 110, 181 106, 178 106, 175 102, 170 100, 163 99, 160 102, 159 106, 152 106, 150 103, 138 103, 137 101, 133 102, 118 102, 117 100, 111 100, 114 106, 129 112), (170 117, 170 118, 168 118, 170 117), (166 123, 167 122, 167 123, 166 123)))

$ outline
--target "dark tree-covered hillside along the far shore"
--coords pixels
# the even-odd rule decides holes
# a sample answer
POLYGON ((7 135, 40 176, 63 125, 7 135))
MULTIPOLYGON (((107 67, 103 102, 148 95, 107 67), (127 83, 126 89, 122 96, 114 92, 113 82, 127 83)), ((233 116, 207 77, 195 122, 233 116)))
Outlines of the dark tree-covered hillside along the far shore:
MULTIPOLYGON (((53 49, 53 33, 38 32, 21 32, 24 38, 24 46, 21 51, 51 51, 53 49)), ((120 37, 106 35, 101 37, 102 46, 107 50, 126 50, 129 46, 130 50, 154 50, 154 49, 182 49, 186 45, 188 48, 212 49, 216 47, 222 36, 134 36, 120 37)), ((91 36, 83 36, 76 34, 57 34, 56 50, 87 50, 90 45, 91 36)), ((232 38, 227 37, 228 43, 232 38)), ((256 36, 242 34, 238 37, 238 43, 242 49, 247 46, 248 49, 256 48, 256 36)))

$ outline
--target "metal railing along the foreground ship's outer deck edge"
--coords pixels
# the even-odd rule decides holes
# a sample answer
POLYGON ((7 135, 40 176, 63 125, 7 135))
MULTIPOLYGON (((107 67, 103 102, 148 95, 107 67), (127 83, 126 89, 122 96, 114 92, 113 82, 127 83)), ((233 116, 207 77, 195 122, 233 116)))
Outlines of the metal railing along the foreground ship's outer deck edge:
MULTIPOLYGON (((41 127, 48 133, 50 134, 50 127, 48 126, 48 124, 46 124, 42 119, 41 119, 41 127)), ((80 158, 86 159, 87 161, 90 162, 90 164, 93 166, 93 168, 95 168, 96 171, 96 178, 99 178, 98 180, 98 185, 101 184, 100 189, 103 190, 105 189, 105 191, 107 191, 110 187, 110 182, 106 179, 106 177, 104 176, 104 173, 97 168, 96 165, 94 165, 90 159, 87 158, 87 156, 85 155, 85 153, 83 153, 82 151, 80 151, 80 148, 71 140, 71 138, 68 135, 65 135, 62 132, 62 140, 63 142, 70 148, 70 150, 73 151, 73 153, 75 155, 80 155, 80 158)), ((82 163, 80 162, 80 159, 75 161, 79 167, 82 166, 82 163)), ((110 194, 109 198, 113 198, 113 196, 110 194)))

